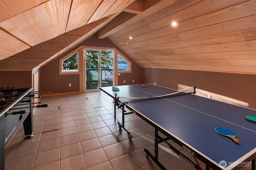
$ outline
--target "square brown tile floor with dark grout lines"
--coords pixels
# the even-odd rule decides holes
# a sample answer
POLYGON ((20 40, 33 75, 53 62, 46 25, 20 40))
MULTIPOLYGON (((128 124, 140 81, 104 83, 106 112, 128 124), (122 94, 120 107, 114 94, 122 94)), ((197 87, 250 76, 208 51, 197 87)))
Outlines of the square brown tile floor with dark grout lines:
MULTIPOLYGON (((154 152, 154 129, 137 115, 127 115, 125 125, 133 135, 129 140, 114 120, 112 98, 103 92, 40 101, 49 107, 34 111, 32 139, 24 139, 20 127, 6 147, 6 170, 160 170, 143 150, 154 152)), ((120 121, 121 115, 118 110, 120 121)), ((160 162, 167 169, 194 169, 164 144, 159 146, 160 162)), ((205 169, 202 162, 200 166, 205 169)))

